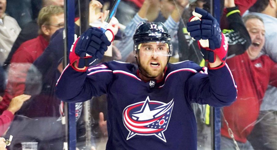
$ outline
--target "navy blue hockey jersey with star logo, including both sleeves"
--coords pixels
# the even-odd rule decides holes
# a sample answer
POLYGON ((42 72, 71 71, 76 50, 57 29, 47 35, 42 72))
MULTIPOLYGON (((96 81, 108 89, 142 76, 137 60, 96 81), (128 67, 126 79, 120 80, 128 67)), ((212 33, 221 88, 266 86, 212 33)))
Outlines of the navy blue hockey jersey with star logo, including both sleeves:
POLYGON ((237 89, 224 65, 168 64, 162 81, 142 81, 134 64, 111 61, 77 72, 67 66, 56 86, 66 102, 107 94, 107 149, 197 149, 191 103, 230 105, 237 89), (208 74, 207 74, 208 73, 208 74))

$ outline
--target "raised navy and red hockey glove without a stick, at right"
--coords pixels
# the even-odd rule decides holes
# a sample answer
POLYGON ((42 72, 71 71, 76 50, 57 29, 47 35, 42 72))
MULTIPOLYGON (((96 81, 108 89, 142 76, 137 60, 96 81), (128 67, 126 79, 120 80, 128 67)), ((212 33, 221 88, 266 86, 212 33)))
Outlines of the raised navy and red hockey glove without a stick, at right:
POLYGON ((195 8, 193 16, 187 23, 190 36, 199 40, 198 44, 205 60, 215 62, 216 55, 222 62, 226 61, 228 43, 222 34, 217 20, 206 10, 195 8))

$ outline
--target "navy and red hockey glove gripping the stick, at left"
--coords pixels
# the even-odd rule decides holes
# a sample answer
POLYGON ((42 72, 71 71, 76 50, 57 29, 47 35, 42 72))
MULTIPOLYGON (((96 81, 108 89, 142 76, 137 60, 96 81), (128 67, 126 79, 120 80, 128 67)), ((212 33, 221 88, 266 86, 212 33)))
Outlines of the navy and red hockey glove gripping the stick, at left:
POLYGON ((89 28, 73 43, 69 54, 70 66, 77 71, 85 71, 86 69, 76 69, 73 63, 77 61, 78 68, 87 68, 96 59, 102 59, 110 45, 111 42, 101 29, 96 27, 89 28))

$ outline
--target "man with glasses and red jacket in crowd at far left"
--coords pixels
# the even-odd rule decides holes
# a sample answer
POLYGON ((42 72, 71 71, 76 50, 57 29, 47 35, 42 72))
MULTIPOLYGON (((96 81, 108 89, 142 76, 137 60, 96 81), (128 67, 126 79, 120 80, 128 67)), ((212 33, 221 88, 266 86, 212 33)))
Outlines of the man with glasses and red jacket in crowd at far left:
POLYGON ((39 36, 21 44, 12 57, 8 72, 8 83, 0 103, 2 113, 10 100, 23 94, 29 66, 38 58, 49 44, 51 36, 64 26, 64 10, 60 6, 46 6, 40 10, 38 21, 39 36))

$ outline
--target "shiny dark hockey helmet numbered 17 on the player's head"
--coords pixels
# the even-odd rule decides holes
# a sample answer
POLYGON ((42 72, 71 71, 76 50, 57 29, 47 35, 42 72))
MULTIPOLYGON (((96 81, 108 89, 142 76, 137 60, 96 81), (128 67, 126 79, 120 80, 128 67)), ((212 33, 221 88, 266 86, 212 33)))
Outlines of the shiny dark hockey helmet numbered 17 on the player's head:
POLYGON ((170 42, 170 34, 165 25, 161 22, 141 22, 133 36, 134 40, 134 54, 137 56, 139 52, 139 44, 149 42, 167 43, 169 52, 168 56, 172 56, 172 45, 170 42))

